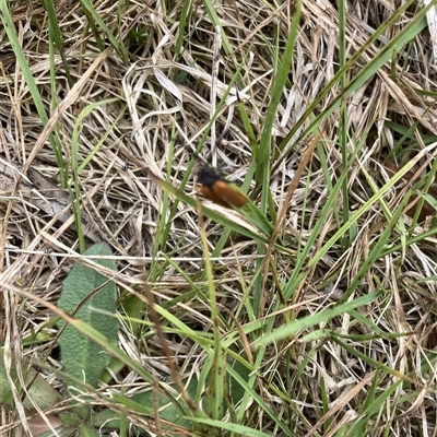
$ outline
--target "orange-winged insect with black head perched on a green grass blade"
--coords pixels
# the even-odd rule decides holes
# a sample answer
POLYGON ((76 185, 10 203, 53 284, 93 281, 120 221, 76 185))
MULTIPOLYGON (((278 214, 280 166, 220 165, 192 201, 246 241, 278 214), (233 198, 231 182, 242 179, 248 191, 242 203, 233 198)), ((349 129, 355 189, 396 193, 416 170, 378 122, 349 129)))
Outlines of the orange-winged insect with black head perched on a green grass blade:
POLYGON ((216 204, 225 208, 243 208, 248 199, 245 194, 234 190, 229 182, 213 167, 204 166, 198 173, 199 192, 216 204))

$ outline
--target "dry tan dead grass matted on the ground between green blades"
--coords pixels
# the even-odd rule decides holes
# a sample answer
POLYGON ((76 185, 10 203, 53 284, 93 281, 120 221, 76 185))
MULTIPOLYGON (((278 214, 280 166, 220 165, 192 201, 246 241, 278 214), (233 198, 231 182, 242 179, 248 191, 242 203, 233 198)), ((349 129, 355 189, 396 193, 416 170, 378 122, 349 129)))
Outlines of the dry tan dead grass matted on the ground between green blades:
MULTIPOLYGON (((274 144, 281 143, 338 70, 336 10, 328 1, 304 3, 302 28, 294 63, 291 66, 292 85, 284 91, 276 114, 274 144)), ((181 271, 191 277, 197 277, 202 271, 199 217, 196 210, 179 203, 179 212, 174 217, 166 245, 156 253, 157 224, 166 212, 162 211, 163 192, 150 177, 150 172, 162 178, 169 176, 175 187, 181 187, 186 193, 194 196, 194 172, 186 184, 182 182, 190 168, 192 155, 180 142, 175 143, 174 140, 177 138, 178 141, 196 147, 209 125, 212 109, 217 105, 217 102, 211 102, 214 28, 201 3, 193 3, 185 28, 184 50, 180 56, 176 56, 180 3, 164 5, 162 2, 131 2, 122 13, 120 23, 115 2, 101 1, 95 3, 95 7, 109 28, 120 29, 119 39, 130 50, 130 62, 125 64, 110 46, 101 52, 87 28, 79 2, 58 2, 56 10, 64 37, 64 54, 73 82, 80 83, 80 86, 71 88, 68 85, 61 60, 57 57, 56 96, 50 90, 48 23, 44 9, 39 2, 34 1, 26 5, 12 7, 11 13, 47 110, 54 98, 62 109, 51 113, 51 121, 58 122, 67 163, 71 161, 71 139, 81 111, 103 99, 117 98, 116 102, 96 107, 84 119, 81 128, 80 162, 87 158, 96 143, 107 134, 103 145, 80 175, 83 211, 90 225, 85 236, 88 244, 105 240, 113 247, 121 271, 118 277, 120 283, 141 284, 144 277, 149 277, 155 297, 160 302, 167 302, 189 288, 181 271), (145 31, 145 37, 137 45, 129 35, 130 32, 141 29, 145 31), (173 131, 176 133, 175 138, 173 131), (170 154, 173 158, 168 162, 170 154), (149 167, 150 170, 145 172, 144 167, 149 167), (150 272, 153 253, 155 261, 164 261, 165 257, 170 257, 177 269, 167 265, 158 274, 150 272)), ((227 39, 223 42, 220 51, 217 99, 223 96, 238 64, 243 63, 241 76, 245 86, 239 84, 239 97, 245 104, 258 140, 262 133, 273 80, 271 51, 267 43, 275 44, 275 32, 279 28, 280 44, 284 44, 293 7, 292 2, 286 2, 281 8, 265 2, 224 2, 215 5, 227 39), (229 52, 226 52, 226 44, 229 52)), ((387 1, 357 1, 349 5, 347 51, 351 56, 367 40, 371 29, 377 28, 393 13, 390 8, 392 2, 387 1)), ((399 28, 405 25, 413 14, 414 10, 406 14, 399 28)), ((387 38, 393 37, 393 33, 399 28, 391 28, 387 38)), ((68 209, 62 210, 66 206, 64 194, 61 191, 57 192, 59 168, 47 141, 48 130, 45 131, 35 113, 26 83, 3 31, 0 31, 0 176, 3 177, 0 179, 0 284, 21 286, 56 304, 62 281, 76 258, 76 233, 71 212, 66 215, 68 209), (34 185, 38 174, 32 176, 32 172, 37 170, 43 175, 43 186, 37 186, 38 193, 32 190, 31 184, 19 184, 19 173, 23 166, 25 170, 31 169, 26 174, 34 185), (42 204, 37 203, 39 194, 44 199, 42 204), (45 206, 45 202, 50 206, 45 206)), ((373 44, 357 61, 356 70, 350 72, 351 76, 364 68, 369 57, 385 43, 381 37, 373 44)), ((432 58, 428 32, 423 31, 412 42, 409 50, 405 48, 398 54, 398 59, 397 80, 390 76, 388 68, 381 68, 345 102, 349 128, 354 134, 350 138, 351 153, 355 142, 365 141, 366 145, 359 156, 361 166, 371 170, 375 180, 379 180, 381 185, 387 179, 385 157, 400 139, 400 134, 385 120, 405 127, 417 123, 417 130, 414 132, 416 143, 413 144, 412 135, 408 141, 409 144, 413 144, 411 151, 406 151, 409 144, 405 144, 402 151, 403 163, 405 158, 413 157, 417 150, 423 149, 423 135, 433 138, 437 134, 435 96, 426 96, 418 92, 435 91, 435 60, 432 58)), ((318 113, 323 111, 339 93, 339 86, 332 86, 327 93, 317 108, 318 113)), ((252 153, 236 104, 233 88, 215 120, 215 139, 224 131, 225 135, 216 146, 214 139, 208 135, 202 155, 208 161, 223 166, 226 174, 238 181, 244 180, 252 153)), ((335 111, 323 125, 322 143, 332 175, 339 175, 342 168, 338 146, 339 117, 340 111, 335 111)), ((274 162, 276 169, 271 178, 271 192, 275 205, 284 202, 294 172, 308 146, 307 140, 295 144, 307 122, 308 120, 300 126, 282 158, 274 162), (288 153, 292 147, 293 153, 288 153)), ((422 163, 425 161, 426 157, 422 163)), ((352 209, 363 204, 373 194, 358 166, 351 168, 350 188, 352 209)), ((304 175, 293 196, 283 228, 287 229, 288 234, 300 235, 300 238, 306 240, 319 217, 327 196, 326 177, 316 155, 311 163, 311 172, 304 175), (305 226, 299 215, 304 202, 308 212, 305 226)), ((394 190, 386 201, 394 208, 394 190)), ((354 244, 343 253, 330 251, 314 269, 311 283, 302 294, 308 302, 302 304, 300 311, 312 314, 320 310, 320 300, 311 303, 311 296, 316 295, 316 287, 312 285, 319 284, 327 275, 342 277, 336 290, 344 291, 349 286, 363 259, 380 236, 380 217, 376 209, 361 217, 357 224, 358 237, 354 244)), ((336 228, 335 217, 328 216, 326 234, 320 237, 320 244, 328 239, 324 235, 332 235, 332 231, 336 228)), ((211 248, 215 246, 222 232, 220 225, 210 223, 208 238, 211 248)), ((245 286, 251 284, 255 260, 258 258, 257 245, 253 241, 233 238, 233 244, 222 251, 214 271, 215 279, 221 284, 220 304, 223 317, 229 320, 229 314, 236 314, 244 299, 245 290, 241 283, 245 286)), ((392 244, 399 243, 399 238, 393 237, 392 244)), ((374 276, 377 275, 383 277, 383 287, 392 290, 392 296, 382 302, 383 307, 363 309, 363 316, 386 332, 414 332, 414 335, 355 346, 375 362, 383 362, 399 374, 412 373, 417 383, 417 398, 405 397, 399 401, 399 398, 412 392, 411 388, 394 394, 398 401, 387 405, 387 411, 381 411, 373 433, 369 434, 371 436, 382 435, 387 421, 391 423, 389 435, 436 435, 436 399, 435 392, 428 389, 435 385, 434 370, 426 375, 418 371, 418 363, 424 358, 426 347, 435 345, 428 340, 428 334, 435 332, 436 326, 433 306, 436 298, 435 244, 435 238, 429 238, 426 243, 413 245, 405 251, 400 249, 394 255, 388 255, 369 270, 363 284, 363 293, 374 291, 377 287, 374 276), (426 277, 428 280, 424 282, 426 277)), ((274 256, 277 280, 286 281, 294 268, 292 260, 277 253, 274 256)), ((267 296, 274 300, 273 286, 267 291, 267 296)), ((323 305, 332 305, 324 298, 322 302, 323 305)), ((173 308, 178 317, 200 331, 210 330, 208 308, 196 300, 196 297, 184 304, 184 310, 180 306, 173 308)), ((273 308, 273 304, 267 302, 265 314, 270 308, 273 308)), ((45 343, 35 349, 22 349, 16 343, 17 339, 27 338, 52 318, 52 314, 44 306, 22 300, 4 288, 3 316, 2 336, 10 351, 42 357, 52 346, 45 343)), ((241 314, 239 322, 246 321, 247 316, 241 314)), ((367 333, 365 326, 351 327, 347 315, 339 318, 331 328, 339 328, 344 334, 367 333)), ((125 327, 121 333, 128 344, 126 350, 135 351, 135 339, 125 332, 126 329, 125 327)), ((54 329, 44 329, 44 332, 55 334, 54 329)), ((180 371, 188 374, 198 369, 205 358, 200 349, 184 339, 173 340, 172 347, 175 354, 184 356, 178 363, 180 371)), ((168 366, 165 359, 160 357, 162 351, 157 343, 158 339, 150 339, 141 361, 146 363, 156 376, 166 375, 169 373, 168 366)), ((296 363, 292 364, 293 369, 302 364, 308 350, 305 344, 294 345, 296 363)), ((280 386, 288 371, 284 367, 284 357, 285 350, 271 351, 271 355, 265 356, 261 373, 276 373, 275 378, 268 378, 272 385, 280 386)), ((432 368, 435 368, 434 363, 432 368)), ((274 398, 274 393, 269 392, 269 387, 265 387, 267 393, 263 394, 282 412, 284 421, 290 423, 290 428, 296 436, 321 433, 320 426, 328 418, 332 421, 331 428, 323 435, 332 436, 342 423, 357 421, 356 411, 359 411, 359 405, 364 403, 371 377, 375 375, 370 370, 365 363, 327 341, 307 363, 300 379, 294 381, 296 386, 302 383, 302 388, 296 389, 299 397, 294 399, 298 405, 298 414, 287 405, 284 408, 286 401, 274 398), (321 379, 330 394, 329 414, 324 414, 321 404, 321 379), (275 402, 279 402, 279 405, 275 402)), ((293 380, 293 376, 290 378, 293 380)), ((61 382, 55 377, 52 381, 54 387, 59 387, 61 382)), ((130 392, 130 387, 132 391, 137 390, 134 375, 130 374, 125 380, 120 377, 118 382, 126 393, 130 392)), ((392 381, 387 377, 385 382, 390 387, 392 381)), ((383 389, 379 387, 379 390, 383 389)), ((14 421, 17 421, 17 416, 4 406, 2 410, 2 417, 10 421, 2 424, 3 429, 7 429, 9 423, 16 424, 14 421)), ((253 423, 253 427, 265 433, 269 432, 269 420, 264 416, 260 416, 259 422, 253 423)))

